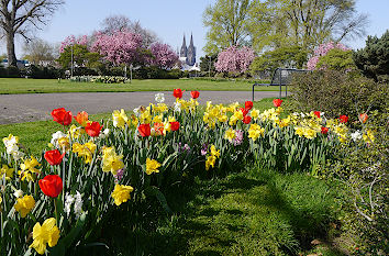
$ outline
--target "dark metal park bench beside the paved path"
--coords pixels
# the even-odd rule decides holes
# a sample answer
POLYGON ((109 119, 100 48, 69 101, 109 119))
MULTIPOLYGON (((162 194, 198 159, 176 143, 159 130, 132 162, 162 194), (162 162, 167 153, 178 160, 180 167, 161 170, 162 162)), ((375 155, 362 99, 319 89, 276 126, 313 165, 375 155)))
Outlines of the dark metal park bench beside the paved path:
POLYGON ((258 84, 253 85, 253 101, 254 101, 254 88, 256 86, 279 86, 279 98, 282 97, 282 86, 285 86, 285 97, 288 97, 288 85, 291 82, 294 74, 309 73, 311 70, 307 69, 296 69, 296 68, 276 68, 271 76, 270 84, 258 84))

